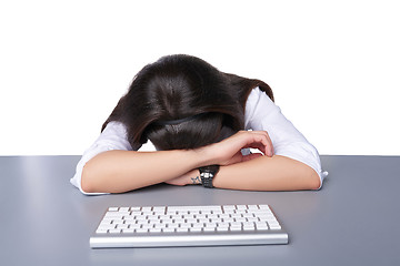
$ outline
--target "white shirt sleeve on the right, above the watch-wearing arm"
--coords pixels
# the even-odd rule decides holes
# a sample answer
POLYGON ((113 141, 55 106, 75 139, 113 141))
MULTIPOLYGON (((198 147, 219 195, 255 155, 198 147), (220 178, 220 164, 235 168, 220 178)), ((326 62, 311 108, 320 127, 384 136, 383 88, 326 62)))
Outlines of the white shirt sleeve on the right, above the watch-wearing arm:
POLYGON ((321 168, 317 149, 282 114, 271 99, 259 88, 251 91, 244 112, 246 130, 267 131, 276 155, 287 156, 309 165, 320 176, 320 187, 328 172, 321 168))

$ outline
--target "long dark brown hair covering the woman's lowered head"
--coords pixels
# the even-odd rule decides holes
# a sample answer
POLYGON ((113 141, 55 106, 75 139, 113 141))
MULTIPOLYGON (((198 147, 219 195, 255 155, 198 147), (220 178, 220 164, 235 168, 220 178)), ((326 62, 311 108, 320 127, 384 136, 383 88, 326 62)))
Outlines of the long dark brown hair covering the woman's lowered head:
POLYGON ((122 122, 133 150, 148 140, 158 150, 204 146, 244 129, 246 101, 256 86, 273 101, 262 81, 220 72, 199 58, 167 55, 139 71, 102 130, 122 122))

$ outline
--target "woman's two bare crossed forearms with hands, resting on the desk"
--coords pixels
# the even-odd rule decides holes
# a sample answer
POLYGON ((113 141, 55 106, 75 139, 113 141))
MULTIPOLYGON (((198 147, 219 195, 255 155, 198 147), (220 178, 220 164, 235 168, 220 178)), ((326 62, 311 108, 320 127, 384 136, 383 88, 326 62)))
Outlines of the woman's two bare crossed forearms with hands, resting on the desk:
POLYGON ((219 164, 221 170, 213 182, 216 187, 253 191, 318 188, 319 176, 312 168, 272 154, 271 141, 262 131, 238 132, 222 142, 196 150, 108 151, 86 164, 81 187, 87 193, 121 193, 162 182, 192 184, 196 168, 219 164), (266 155, 243 156, 240 151, 244 147, 259 149, 266 155))

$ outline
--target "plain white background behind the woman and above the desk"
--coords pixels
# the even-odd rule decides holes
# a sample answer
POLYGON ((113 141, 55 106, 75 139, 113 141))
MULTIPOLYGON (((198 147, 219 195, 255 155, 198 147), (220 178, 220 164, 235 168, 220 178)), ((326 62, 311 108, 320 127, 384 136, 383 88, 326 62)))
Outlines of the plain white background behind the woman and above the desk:
POLYGON ((0 155, 81 154, 172 53, 269 83, 321 154, 400 154, 398 1, 0 1, 0 155))

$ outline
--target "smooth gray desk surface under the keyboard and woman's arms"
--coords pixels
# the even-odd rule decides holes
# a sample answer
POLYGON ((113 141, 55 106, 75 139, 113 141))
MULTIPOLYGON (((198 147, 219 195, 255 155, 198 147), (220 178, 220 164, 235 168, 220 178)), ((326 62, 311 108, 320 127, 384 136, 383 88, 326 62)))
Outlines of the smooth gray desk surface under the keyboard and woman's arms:
POLYGON ((1 265, 400 265, 400 157, 322 156, 318 192, 156 185, 83 196, 79 156, 0 157, 1 265), (90 249, 108 206, 268 203, 289 245, 90 249), (222 264, 221 264, 222 263, 222 264))

